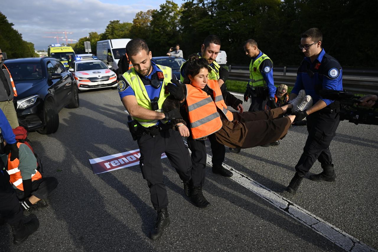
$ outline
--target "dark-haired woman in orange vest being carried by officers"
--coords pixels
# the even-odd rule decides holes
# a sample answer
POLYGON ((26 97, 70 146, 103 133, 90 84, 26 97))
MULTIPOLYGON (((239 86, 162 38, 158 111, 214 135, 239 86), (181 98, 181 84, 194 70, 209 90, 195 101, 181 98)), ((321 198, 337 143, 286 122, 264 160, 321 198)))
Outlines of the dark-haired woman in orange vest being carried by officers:
MULTIPOLYGON (((178 84, 178 88, 168 83, 167 88, 180 103, 185 102, 193 139, 214 133, 215 139, 228 147, 251 148, 277 141, 287 134, 295 119, 293 115, 282 117, 289 105, 268 111, 231 112, 217 81, 208 80, 211 69, 207 60, 193 56, 188 64, 185 85, 178 84)), ((172 103, 169 98, 164 103, 172 103)), ((178 131, 186 135, 189 130, 182 125, 178 131)))

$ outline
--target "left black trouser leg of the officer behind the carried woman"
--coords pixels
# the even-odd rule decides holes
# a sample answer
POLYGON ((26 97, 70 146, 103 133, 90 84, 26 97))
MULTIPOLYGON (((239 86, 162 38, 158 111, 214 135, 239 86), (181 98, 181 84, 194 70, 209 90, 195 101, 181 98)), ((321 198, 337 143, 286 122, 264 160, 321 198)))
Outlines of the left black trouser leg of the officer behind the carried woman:
MULTIPOLYGON (((191 161, 192 161, 193 186, 203 186, 205 183, 205 168, 206 168, 206 156, 207 156, 205 141, 193 140, 192 137, 189 136, 187 138, 187 143, 188 143, 189 149, 192 152, 191 161)), ((224 145, 222 146, 224 148, 224 145)))

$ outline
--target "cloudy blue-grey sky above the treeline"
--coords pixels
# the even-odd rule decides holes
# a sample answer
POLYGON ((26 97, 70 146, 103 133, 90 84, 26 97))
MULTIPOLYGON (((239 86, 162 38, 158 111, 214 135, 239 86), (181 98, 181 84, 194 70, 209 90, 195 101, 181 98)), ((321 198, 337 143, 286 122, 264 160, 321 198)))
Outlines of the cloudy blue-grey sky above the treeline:
MULTIPOLYGON (((173 1, 179 6, 183 3, 173 1)), ((159 9, 162 3, 165 0, 2 0, 0 12, 14 24, 23 40, 34 43, 38 50, 47 50, 57 40, 44 37, 65 36, 48 32, 72 32, 67 38, 79 40, 92 31, 104 32, 111 20, 132 23, 137 12, 159 9)))

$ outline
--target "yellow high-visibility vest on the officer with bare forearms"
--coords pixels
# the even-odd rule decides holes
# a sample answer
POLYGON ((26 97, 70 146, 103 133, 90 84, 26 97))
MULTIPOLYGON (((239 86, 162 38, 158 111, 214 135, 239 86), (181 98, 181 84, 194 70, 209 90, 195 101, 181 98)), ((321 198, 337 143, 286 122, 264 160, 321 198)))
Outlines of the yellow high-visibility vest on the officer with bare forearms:
MULTIPOLYGON (((157 112, 163 113, 164 111, 161 110, 161 107, 163 107, 164 100, 169 96, 169 93, 165 93, 165 86, 167 83, 170 83, 170 80, 172 79, 172 69, 167 66, 161 66, 156 65, 158 68, 160 68, 161 71, 163 71, 164 80, 163 84, 160 90, 159 94, 159 100, 158 100, 158 107, 159 109, 156 110, 157 112)), ((151 107, 151 99, 147 94, 146 87, 144 87, 144 84, 138 74, 136 74, 135 69, 131 68, 129 71, 123 74, 127 82, 129 83, 130 87, 135 93, 136 101, 138 102, 138 105, 147 108, 148 110, 152 110, 151 107)), ((151 127, 158 123, 159 120, 149 120, 149 119, 140 119, 138 117, 133 116, 133 119, 139 122, 140 125, 143 127, 151 127)), ((166 124, 168 121, 160 120, 163 124, 166 124)))

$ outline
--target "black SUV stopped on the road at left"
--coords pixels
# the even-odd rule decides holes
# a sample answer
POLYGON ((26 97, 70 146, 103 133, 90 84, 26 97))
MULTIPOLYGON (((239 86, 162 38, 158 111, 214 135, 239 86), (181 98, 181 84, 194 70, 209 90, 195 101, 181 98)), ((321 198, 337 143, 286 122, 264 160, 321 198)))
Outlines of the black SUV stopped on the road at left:
POLYGON ((5 60, 17 96, 13 102, 19 124, 26 130, 51 134, 59 127, 59 111, 79 107, 76 82, 52 57, 5 60))

